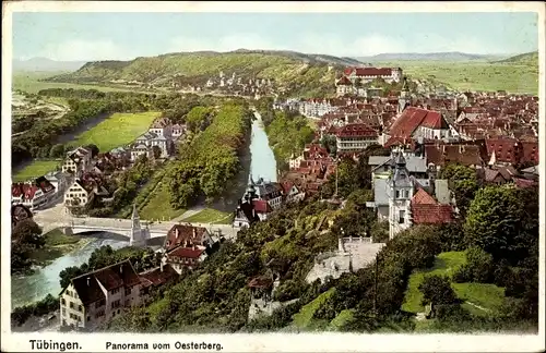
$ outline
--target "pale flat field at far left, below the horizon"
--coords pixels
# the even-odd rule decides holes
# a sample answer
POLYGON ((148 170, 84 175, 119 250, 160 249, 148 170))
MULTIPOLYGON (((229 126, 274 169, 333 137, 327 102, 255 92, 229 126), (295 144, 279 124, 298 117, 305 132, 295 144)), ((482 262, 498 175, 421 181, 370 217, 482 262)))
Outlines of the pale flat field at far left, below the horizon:
POLYGON ((58 73, 55 72, 17 72, 12 76, 12 90, 23 90, 31 94, 36 94, 41 89, 47 88, 73 88, 73 89, 97 89, 100 92, 134 92, 131 88, 124 87, 108 87, 98 85, 80 85, 72 83, 58 82, 40 82, 40 78, 51 77, 58 73))

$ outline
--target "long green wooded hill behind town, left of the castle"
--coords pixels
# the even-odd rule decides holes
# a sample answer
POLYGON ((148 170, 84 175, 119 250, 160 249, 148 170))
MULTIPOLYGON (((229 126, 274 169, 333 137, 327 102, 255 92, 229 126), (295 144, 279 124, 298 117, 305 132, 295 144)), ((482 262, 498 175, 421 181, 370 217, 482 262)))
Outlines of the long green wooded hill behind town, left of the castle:
POLYGON ((310 93, 327 89, 331 93, 335 72, 353 65, 363 63, 352 58, 327 54, 239 49, 230 52, 167 53, 130 61, 94 61, 75 72, 56 75, 47 81, 97 84, 139 82, 168 87, 174 81, 182 86, 202 85, 210 77, 217 77, 222 71, 228 77, 235 73, 239 77, 272 78, 287 92, 301 93, 305 87, 310 93))

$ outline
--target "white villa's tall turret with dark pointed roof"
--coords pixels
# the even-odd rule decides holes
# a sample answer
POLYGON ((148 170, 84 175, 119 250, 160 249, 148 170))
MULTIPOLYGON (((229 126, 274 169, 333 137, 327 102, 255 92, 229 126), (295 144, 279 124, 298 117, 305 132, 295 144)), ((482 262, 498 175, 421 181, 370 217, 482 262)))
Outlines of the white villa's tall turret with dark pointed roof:
POLYGON ((394 151, 393 172, 389 178, 389 239, 412 226, 411 202, 414 181, 406 168, 402 150, 394 151))

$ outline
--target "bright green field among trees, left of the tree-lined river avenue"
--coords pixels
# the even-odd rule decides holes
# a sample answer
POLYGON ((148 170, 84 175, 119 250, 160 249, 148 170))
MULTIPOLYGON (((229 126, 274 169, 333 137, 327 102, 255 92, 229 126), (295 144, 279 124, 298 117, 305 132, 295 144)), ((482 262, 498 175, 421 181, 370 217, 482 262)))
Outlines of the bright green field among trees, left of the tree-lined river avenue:
POLYGON ((79 135, 78 145, 94 144, 102 151, 127 145, 147 131, 158 112, 115 113, 79 135))

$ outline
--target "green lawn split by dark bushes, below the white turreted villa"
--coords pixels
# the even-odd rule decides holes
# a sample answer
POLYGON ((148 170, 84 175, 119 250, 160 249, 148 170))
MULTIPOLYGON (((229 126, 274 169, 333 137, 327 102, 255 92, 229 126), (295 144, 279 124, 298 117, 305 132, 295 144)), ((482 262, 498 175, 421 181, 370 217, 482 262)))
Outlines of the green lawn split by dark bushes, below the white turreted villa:
MULTIPOLYGON (((425 276, 440 275, 451 276, 456 269, 466 263, 464 252, 441 253, 437 256, 435 266, 426 270, 417 270, 410 277, 407 291, 402 309, 410 313, 424 313, 425 307, 420 304, 423 294, 418 287, 425 276)), ((475 315, 488 315, 495 313, 505 301, 505 290, 495 284, 486 283, 452 283, 456 296, 465 303, 463 307, 475 315), (478 308, 483 307, 484 309, 478 308)))

